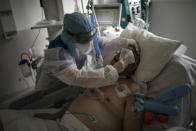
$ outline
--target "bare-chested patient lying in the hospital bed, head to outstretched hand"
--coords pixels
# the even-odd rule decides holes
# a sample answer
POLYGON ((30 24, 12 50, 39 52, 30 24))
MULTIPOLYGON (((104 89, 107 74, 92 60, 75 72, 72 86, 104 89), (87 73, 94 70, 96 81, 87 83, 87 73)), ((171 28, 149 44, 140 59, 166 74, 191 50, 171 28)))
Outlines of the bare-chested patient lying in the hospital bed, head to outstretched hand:
MULTIPOLYGON (((95 89, 86 89, 69 107, 68 111, 86 125, 91 131, 139 131, 142 127, 142 112, 136 110, 134 96, 120 97, 116 88, 126 85, 131 93, 140 92, 139 86, 130 80, 139 63, 139 55, 133 46, 127 47, 135 56, 135 63, 129 65, 120 75, 126 79, 119 79, 117 84, 95 89), (93 122, 86 115, 96 118, 93 122)), ((111 64, 118 61, 120 51, 117 52, 111 64)), ((66 116, 61 110, 54 114, 36 114, 38 118, 56 120, 66 116)), ((62 121, 61 121, 62 123, 62 121)))

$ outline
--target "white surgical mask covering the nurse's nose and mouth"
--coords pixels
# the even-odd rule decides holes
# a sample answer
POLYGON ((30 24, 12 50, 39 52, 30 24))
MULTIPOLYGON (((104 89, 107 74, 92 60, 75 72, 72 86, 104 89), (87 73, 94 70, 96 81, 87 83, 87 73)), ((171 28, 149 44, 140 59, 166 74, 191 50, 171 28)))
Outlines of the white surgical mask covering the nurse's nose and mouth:
POLYGON ((76 48, 83 54, 88 54, 91 50, 92 42, 87 43, 75 43, 76 48))

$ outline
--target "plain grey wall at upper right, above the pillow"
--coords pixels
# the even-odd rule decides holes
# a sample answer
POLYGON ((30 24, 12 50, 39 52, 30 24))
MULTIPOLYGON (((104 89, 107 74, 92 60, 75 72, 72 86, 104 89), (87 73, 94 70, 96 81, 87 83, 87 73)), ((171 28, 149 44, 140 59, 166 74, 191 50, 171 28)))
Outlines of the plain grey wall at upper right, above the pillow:
POLYGON ((195 13, 195 0, 152 0, 150 31, 182 41, 187 55, 196 59, 195 13))

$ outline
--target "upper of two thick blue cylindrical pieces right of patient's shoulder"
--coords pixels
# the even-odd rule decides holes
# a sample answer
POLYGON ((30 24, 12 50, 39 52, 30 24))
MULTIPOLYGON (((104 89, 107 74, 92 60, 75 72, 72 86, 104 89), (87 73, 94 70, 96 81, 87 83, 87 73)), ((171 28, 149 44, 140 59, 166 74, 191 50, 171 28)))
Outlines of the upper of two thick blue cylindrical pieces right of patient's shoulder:
POLYGON ((159 102, 169 102, 177 100, 192 92, 192 87, 188 83, 181 84, 175 88, 166 89, 156 95, 156 100, 159 102))

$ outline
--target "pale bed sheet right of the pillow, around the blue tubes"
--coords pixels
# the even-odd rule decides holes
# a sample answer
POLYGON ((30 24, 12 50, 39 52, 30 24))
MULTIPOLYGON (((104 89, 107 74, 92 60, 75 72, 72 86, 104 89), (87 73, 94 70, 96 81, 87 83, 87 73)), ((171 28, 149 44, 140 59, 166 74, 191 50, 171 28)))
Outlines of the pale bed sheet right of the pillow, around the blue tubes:
POLYGON ((196 60, 186 55, 174 55, 159 76, 150 82, 147 95, 155 97, 157 93, 183 83, 189 83, 192 86, 192 94, 170 102, 170 104, 178 105, 180 114, 176 117, 169 117, 166 124, 153 121, 150 126, 145 126, 145 131, 159 131, 173 126, 187 127, 189 125, 195 115, 196 107, 196 101, 194 101, 196 100, 196 60))

